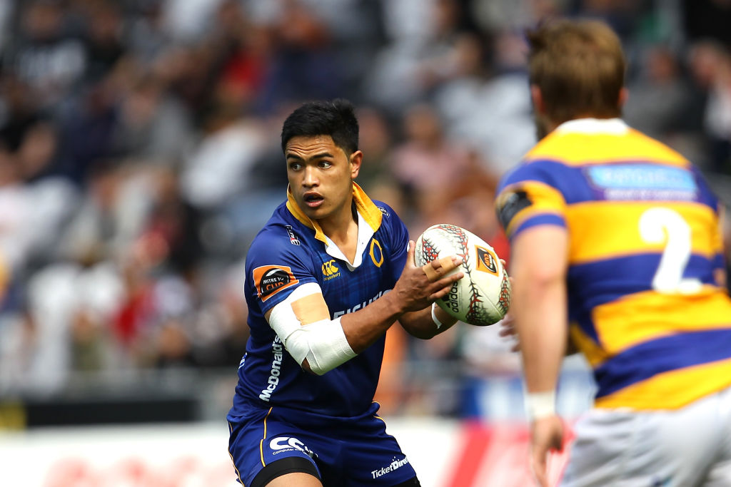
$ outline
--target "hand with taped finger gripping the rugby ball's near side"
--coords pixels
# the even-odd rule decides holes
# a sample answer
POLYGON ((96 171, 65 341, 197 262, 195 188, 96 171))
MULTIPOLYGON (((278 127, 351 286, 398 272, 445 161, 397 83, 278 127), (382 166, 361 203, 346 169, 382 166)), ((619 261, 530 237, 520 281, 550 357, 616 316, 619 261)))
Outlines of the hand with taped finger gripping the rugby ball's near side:
POLYGON ((423 310, 435 299, 445 296, 452 288, 452 283, 464 277, 462 272, 452 272, 460 264, 461 257, 451 256, 417 267, 414 264, 414 241, 409 240, 404 272, 391 292, 396 293, 406 311, 423 310), (428 269, 425 269, 427 266, 428 269))

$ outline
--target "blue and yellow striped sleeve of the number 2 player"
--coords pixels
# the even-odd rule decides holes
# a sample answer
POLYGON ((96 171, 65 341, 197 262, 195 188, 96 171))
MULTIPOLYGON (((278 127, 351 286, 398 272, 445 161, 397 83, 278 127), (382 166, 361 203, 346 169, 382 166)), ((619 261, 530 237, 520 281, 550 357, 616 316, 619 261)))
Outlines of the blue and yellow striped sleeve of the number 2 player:
POLYGON ((501 180, 496 211, 509 239, 532 226, 566 226, 566 199, 550 169, 535 161, 518 166, 501 180))

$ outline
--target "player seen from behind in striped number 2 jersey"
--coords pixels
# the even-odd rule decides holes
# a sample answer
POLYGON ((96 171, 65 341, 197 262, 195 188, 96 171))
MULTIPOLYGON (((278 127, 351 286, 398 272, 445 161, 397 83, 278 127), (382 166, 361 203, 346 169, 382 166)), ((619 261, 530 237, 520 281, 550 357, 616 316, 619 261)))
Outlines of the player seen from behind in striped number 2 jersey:
POLYGON ((591 20, 527 33, 539 142, 499 185, 531 466, 561 450, 567 338, 594 371, 563 486, 731 486, 731 300, 721 204, 621 120, 625 59, 591 20))

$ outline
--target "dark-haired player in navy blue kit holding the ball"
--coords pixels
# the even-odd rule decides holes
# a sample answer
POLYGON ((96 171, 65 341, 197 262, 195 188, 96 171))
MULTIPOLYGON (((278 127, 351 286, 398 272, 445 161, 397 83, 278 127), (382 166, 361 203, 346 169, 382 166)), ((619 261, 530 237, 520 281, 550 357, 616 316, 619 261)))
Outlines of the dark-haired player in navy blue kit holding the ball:
POLYGON ((363 153, 348 101, 303 104, 281 147, 287 201, 246 254, 251 337, 227 415, 238 480, 420 486, 373 398, 393 323, 423 339, 455 323, 433 302, 461 260, 414 266, 404 223, 354 182, 363 153))

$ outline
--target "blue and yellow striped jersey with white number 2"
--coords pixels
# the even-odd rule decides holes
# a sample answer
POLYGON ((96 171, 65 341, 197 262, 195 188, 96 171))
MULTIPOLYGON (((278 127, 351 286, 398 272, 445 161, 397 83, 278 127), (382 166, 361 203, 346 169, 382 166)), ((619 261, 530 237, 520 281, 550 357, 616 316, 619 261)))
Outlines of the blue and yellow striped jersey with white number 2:
POLYGON ((597 407, 674 409, 731 384, 719 202, 686 158, 622 120, 572 120, 505 175, 497 210, 510 239, 567 228, 597 407))

